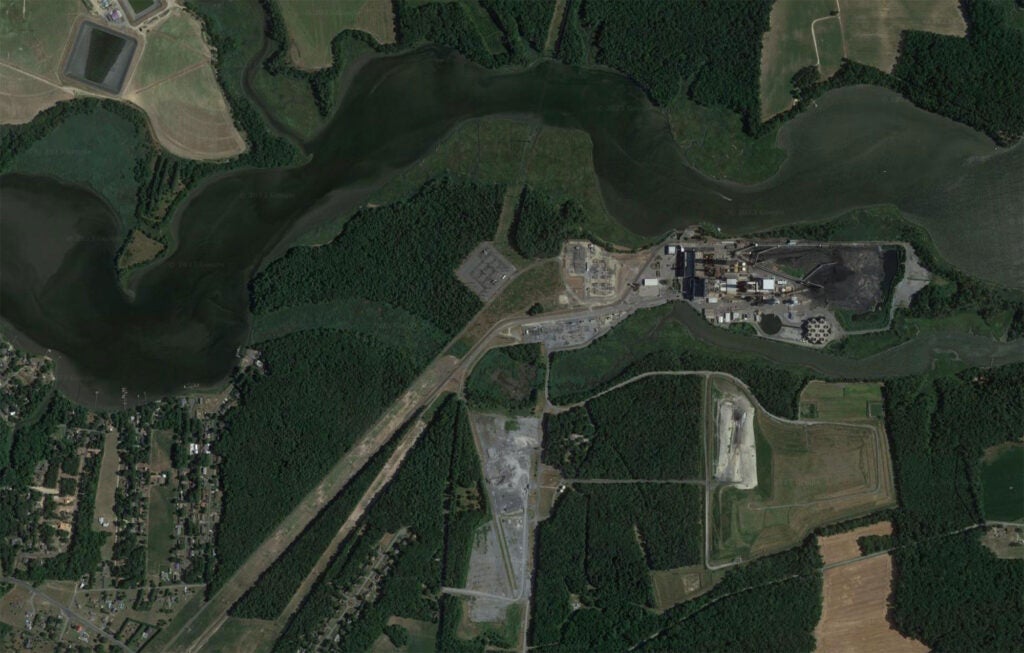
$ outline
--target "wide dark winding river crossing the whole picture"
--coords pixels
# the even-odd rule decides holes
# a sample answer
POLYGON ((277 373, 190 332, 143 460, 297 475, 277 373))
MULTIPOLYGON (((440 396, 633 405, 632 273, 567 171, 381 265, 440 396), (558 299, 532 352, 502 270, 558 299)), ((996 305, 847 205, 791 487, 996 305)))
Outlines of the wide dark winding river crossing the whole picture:
MULTIPOLYGON (((663 112, 626 78, 546 62, 486 71, 435 49, 374 58, 352 76, 299 168, 202 184, 175 215, 177 246, 131 296, 113 267, 111 209, 46 177, 0 177, 0 317, 60 354, 80 400, 112 404, 209 385, 230 371, 253 271, 317 222, 348 211, 466 120, 514 115, 586 131, 609 212, 645 235, 710 222, 754 230, 891 203, 965 270, 1024 287, 1024 148, 868 87, 833 92, 787 124, 788 159, 754 186, 683 159, 663 112)), ((101 162, 97 162, 101 163, 101 162)))

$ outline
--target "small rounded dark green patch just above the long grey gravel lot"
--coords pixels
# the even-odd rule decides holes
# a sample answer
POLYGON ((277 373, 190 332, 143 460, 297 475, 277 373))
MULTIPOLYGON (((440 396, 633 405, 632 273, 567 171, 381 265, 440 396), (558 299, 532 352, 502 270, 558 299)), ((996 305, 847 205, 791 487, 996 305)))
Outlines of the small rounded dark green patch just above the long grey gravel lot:
POLYGON ((475 410, 531 412, 546 366, 538 344, 492 349, 466 380, 466 401, 475 410))

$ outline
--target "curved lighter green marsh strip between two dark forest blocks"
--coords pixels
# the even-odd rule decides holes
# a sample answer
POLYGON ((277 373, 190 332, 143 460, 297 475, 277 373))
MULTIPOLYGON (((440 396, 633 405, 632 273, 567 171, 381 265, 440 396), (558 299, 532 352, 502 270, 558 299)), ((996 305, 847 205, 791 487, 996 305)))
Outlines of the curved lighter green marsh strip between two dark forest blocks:
POLYGON ((444 347, 444 334, 429 321, 400 308, 359 298, 291 306, 253 319, 249 342, 259 343, 299 331, 336 329, 374 336, 404 348, 425 363, 444 347))

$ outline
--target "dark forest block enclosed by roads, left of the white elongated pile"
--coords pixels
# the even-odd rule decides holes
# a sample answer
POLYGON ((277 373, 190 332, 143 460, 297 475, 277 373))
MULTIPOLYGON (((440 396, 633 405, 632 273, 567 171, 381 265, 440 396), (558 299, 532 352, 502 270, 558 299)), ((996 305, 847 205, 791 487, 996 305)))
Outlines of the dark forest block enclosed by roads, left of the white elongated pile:
POLYGON ((701 479, 702 402, 702 377, 642 379, 546 416, 542 460, 565 478, 701 479))

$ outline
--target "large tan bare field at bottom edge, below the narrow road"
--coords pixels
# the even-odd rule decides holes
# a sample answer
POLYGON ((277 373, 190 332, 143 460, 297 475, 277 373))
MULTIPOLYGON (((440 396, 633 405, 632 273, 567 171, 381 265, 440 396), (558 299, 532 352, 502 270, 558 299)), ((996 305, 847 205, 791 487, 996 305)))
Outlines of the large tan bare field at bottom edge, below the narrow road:
POLYGON ((821 620, 814 630, 819 651, 828 653, 916 653, 927 651, 886 619, 892 558, 876 556, 824 570, 821 620))

